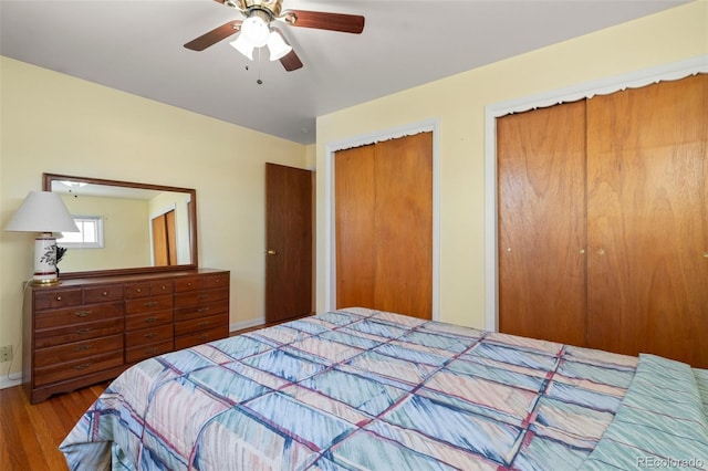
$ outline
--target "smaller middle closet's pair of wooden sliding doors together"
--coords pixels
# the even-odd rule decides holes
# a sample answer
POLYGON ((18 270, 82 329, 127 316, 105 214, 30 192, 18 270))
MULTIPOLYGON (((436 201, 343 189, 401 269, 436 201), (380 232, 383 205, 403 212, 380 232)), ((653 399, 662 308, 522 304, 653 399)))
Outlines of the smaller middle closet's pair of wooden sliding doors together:
POLYGON ((433 133, 335 156, 336 306, 433 316, 433 133))

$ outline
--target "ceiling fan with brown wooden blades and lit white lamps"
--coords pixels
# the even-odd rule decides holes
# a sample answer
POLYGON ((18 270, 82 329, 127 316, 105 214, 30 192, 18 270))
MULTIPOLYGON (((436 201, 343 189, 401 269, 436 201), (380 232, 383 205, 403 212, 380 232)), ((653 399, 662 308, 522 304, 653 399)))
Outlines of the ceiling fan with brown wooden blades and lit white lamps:
POLYGON ((360 34, 364 31, 364 17, 357 14, 326 13, 322 11, 282 10, 283 0, 214 0, 235 8, 244 17, 232 20, 200 35, 185 48, 204 51, 210 45, 240 33, 231 45, 241 54, 253 59, 253 50, 268 45, 270 60, 280 61, 288 72, 302 67, 302 61, 287 42, 282 32, 272 25, 282 21, 291 27, 314 28, 360 34))

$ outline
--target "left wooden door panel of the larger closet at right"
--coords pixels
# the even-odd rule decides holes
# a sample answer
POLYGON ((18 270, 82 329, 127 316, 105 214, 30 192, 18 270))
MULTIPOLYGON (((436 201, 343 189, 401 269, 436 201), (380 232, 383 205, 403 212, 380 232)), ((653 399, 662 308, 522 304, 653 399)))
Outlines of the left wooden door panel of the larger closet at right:
POLYGON ((499 331, 585 344, 585 101, 497 119, 499 331))

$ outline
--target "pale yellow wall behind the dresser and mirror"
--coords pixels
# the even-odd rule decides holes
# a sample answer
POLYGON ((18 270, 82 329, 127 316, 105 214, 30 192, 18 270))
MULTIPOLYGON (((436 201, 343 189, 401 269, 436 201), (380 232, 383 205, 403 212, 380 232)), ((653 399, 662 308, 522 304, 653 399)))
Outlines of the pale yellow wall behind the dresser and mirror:
MULTIPOLYGON (((41 189, 42 172, 196 188, 199 264, 231 271, 232 324, 263 316, 264 163, 305 167, 306 146, 0 60, 0 228, 41 189)), ((11 371, 32 238, 0 232, 0 345, 14 346, 11 371)))

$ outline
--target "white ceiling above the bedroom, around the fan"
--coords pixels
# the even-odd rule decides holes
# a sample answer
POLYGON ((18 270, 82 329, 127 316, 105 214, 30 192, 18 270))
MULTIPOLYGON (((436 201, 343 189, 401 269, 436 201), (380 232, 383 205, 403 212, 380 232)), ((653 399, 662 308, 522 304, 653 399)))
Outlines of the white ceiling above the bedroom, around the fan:
POLYGON ((0 52, 311 144, 316 116, 685 2, 284 0, 283 9, 366 18, 362 34, 281 24, 304 64, 285 72, 267 60, 247 70, 229 46, 236 35, 202 52, 183 48, 242 19, 212 0, 1 0, 0 52))

